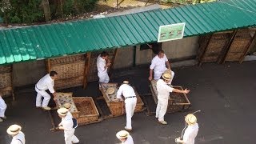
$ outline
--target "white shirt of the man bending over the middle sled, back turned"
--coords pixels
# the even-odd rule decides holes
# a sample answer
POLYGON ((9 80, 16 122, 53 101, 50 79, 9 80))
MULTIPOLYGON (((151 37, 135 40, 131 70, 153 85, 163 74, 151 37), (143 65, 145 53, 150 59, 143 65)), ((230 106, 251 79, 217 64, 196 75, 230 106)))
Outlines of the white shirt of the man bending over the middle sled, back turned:
POLYGON ((123 95, 125 98, 136 96, 136 94, 134 92, 134 88, 127 84, 122 84, 119 87, 118 92, 117 92, 117 98, 121 98, 121 95, 123 95))

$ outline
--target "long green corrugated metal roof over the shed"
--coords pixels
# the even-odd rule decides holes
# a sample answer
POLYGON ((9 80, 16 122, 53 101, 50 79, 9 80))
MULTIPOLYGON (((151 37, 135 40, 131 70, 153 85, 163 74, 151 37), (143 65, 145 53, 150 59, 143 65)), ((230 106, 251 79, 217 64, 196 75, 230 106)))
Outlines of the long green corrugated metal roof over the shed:
POLYGON ((256 0, 222 0, 110 18, 0 30, 0 64, 155 42, 186 22, 184 37, 256 25, 256 0))

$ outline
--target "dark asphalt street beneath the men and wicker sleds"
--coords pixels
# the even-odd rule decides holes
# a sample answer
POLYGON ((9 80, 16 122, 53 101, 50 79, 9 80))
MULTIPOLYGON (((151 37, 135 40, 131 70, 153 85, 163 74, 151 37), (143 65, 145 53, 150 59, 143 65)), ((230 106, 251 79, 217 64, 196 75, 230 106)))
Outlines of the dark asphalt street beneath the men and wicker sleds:
MULTIPOLYGON (((207 144, 253 144, 256 119, 256 62, 203 64, 175 68, 173 85, 190 89, 188 94, 192 103, 191 112, 197 113, 199 131, 196 143, 207 144)), ((111 79, 122 82, 128 78, 139 94, 149 93, 148 67, 138 66, 114 74, 125 76, 111 79)), ((97 82, 91 82, 86 90, 72 89, 74 95, 99 96, 97 82)), ((65 91, 65 90, 64 90, 65 91)), ((50 132, 50 118, 43 110, 35 108, 33 87, 17 90, 16 101, 8 101, 7 121, 0 123, 0 143, 10 143, 6 128, 10 124, 20 124, 26 134, 26 144, 62 144, 62 131, 50 132)), ((154 116, 146 112, 134 114, 133 131, 130 133, 135 144, 171 144, 175 143, 185 126, 184 116, 189 112, 166 114, 167 126, 158 124, 154 116)), ((81 144, 118 143, 115 134, 125 126, 126 118, 110 118, 95 124, 80 126, 75 134, 81 144)))

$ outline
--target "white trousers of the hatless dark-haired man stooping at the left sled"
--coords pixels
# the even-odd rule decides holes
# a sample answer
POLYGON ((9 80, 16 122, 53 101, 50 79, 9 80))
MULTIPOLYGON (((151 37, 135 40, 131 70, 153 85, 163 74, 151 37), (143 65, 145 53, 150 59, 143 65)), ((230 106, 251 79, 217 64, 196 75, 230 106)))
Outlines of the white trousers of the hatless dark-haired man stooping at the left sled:
POLYGON ((38 90, 36 87, 35 87, 35 91, 38 92, 35 105, 42 106, 42 107, 48 106, 48 103, 50 101, 50 94, 48 94, 45 90, 38 90), (43 97, 43 101, 42 101, 42 97, 43 97))

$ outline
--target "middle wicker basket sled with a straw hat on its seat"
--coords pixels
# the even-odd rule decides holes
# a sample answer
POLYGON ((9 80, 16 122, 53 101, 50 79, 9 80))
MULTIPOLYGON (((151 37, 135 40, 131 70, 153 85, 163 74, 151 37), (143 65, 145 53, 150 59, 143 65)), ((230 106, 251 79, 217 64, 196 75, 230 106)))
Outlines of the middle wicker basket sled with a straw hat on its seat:
MULTIPOLYGON (((126 114, 125 102, 118 101, 118 99, 116 98, 118 88, 119 88, 118 83, 104 83, 104 84, 102 83, 100 84, 100 87, 99 87, 99 89, 102 91, 103 98, 105 99, 106 104, 109 107, 110 112, 114 117, 126 114), (115 89, 114 94, 109 95, 106 93, 106 90, 109 87, 114 87, 115 89)), ((134 89, 134 92, 137 97, 137 104, 134 112, 140 112, 143 110, 144 103, 142 102, 142 98, 140 98, 140 96, 138 95, 135 89, 134 89)))

